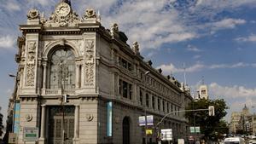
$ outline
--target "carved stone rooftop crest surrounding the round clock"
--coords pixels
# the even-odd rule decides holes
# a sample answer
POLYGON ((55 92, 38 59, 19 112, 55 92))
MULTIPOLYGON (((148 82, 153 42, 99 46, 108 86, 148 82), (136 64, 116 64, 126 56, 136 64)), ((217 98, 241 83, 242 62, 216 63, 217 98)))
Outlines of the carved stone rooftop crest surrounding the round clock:
POLYGON ((55 13, 51 14, 44 26, 76 26, 80 23, 79 15, 73 12, 70 5, 61 2, 55 8, 55 13))

